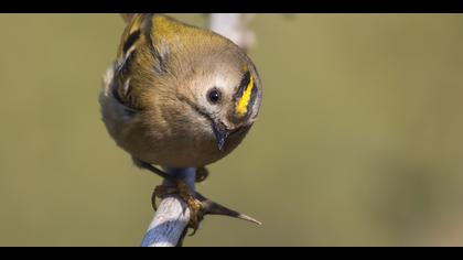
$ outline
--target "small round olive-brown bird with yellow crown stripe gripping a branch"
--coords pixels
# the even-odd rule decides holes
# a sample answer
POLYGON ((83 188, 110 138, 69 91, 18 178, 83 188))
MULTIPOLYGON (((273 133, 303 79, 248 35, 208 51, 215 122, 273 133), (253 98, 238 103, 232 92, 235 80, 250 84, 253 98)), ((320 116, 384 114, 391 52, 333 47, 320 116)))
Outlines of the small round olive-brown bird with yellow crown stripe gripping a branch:
MULTIPOLYGON (((207 175, 205 166, 238 147, 257 119, 262 84, 256 66, 212 31, 162 14, 125 19, 99 96, 109 134, 137 166, 162 177, 172 178, 154 165, 197 167, 207 175)), ((206 208, 212 202, 175 183, 195 230, 201 214, 254 220, 218 204, 206 208)))

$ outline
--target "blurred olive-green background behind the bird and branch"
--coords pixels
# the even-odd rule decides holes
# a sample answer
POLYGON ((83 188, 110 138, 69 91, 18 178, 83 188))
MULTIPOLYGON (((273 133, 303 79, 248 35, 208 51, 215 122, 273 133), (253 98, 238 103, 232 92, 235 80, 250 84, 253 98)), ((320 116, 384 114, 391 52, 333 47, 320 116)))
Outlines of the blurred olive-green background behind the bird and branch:
MULTIPOLYGON (((174 14, 206 25, 201 14, 174 14)), ((257 14, 259 121, 185 246, 463 246, 463 15, 257 14)), ((118 14, 0 14, 0 245, 139 246, 160 178, 100 121, 118 14)))

